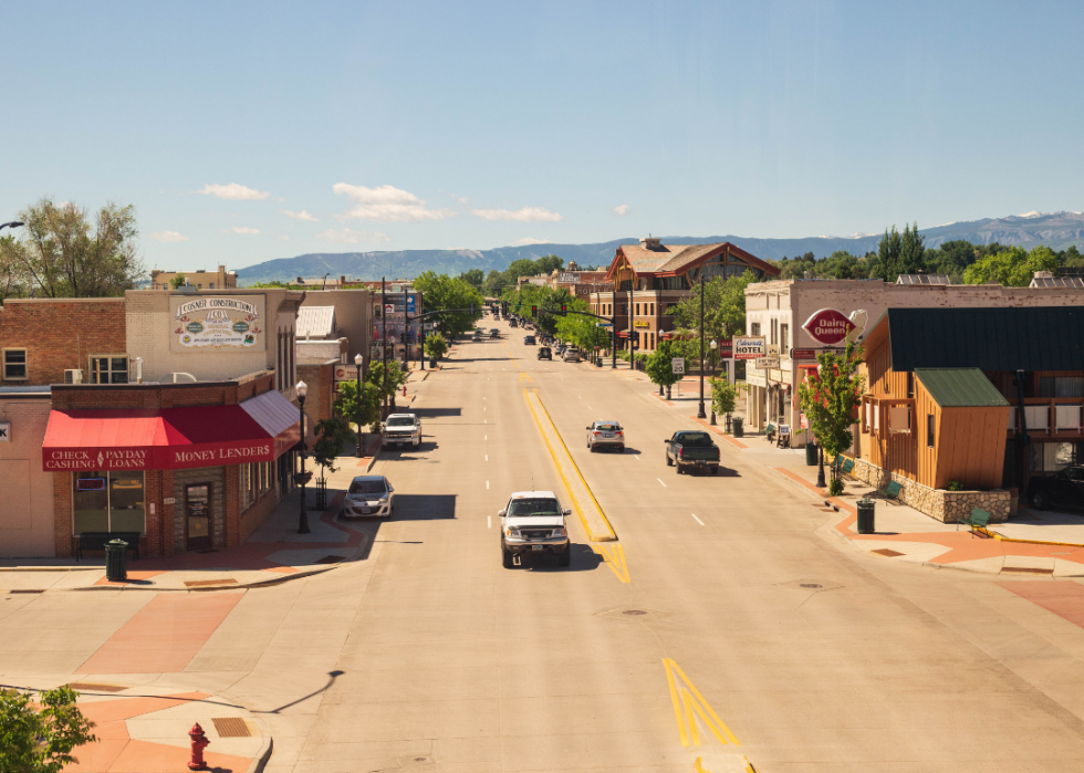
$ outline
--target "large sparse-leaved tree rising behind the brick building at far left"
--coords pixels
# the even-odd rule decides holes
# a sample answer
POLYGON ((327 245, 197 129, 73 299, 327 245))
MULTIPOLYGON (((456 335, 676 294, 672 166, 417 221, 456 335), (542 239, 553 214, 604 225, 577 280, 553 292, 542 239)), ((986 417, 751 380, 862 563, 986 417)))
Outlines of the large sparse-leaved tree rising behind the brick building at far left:
POLYGON ((43 198, 19 213, 21 239, 0 240, 27 292, 38 297, 115 297, 144 275, 135 208, 107 203, 92 228, 87 210, 43 198))

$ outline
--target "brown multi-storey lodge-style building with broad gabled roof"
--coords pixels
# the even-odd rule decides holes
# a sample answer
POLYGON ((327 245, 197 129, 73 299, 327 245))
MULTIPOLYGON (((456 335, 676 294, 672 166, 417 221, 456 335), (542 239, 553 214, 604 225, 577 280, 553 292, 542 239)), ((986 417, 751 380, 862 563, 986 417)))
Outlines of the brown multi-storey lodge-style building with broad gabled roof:
POLYGON ((612 316, 617 311, 618 341, 629 335, 644 354, 655 351, 664 333, 674 330, 666 313, 691 294, 700 281, 728 279, 751 271, 758 281, 779 275, 779 269, 736 244, 664 244, 660 239, 640 239, 622 244, 606 272, 613 290, 592 293, 591 311, 612 316), (629 322, 632 324, 629 324, 629 322))

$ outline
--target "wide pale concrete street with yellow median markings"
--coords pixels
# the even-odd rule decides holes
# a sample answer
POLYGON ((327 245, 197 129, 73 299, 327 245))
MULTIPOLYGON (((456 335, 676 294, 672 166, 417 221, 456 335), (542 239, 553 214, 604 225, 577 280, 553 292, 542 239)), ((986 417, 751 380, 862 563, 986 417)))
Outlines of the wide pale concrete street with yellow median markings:
POLYGON ((0 681, 219 696, 273 773, 1084 771, 1084 630, 1028 599, 1055 581, 857 552, 727 443, 717 477, 678 476, 661 445, 697 428, 688 404, 483 324, 504 337, 411 384, 426 442, 374 467, 396 513, 362 560, 242 592, 3 594, 0 681), (595 419, 625 453, 588 452, 595 419), (497 512, 532 488, 617 540, 574 514, 571 568, 502 568, 497 512))

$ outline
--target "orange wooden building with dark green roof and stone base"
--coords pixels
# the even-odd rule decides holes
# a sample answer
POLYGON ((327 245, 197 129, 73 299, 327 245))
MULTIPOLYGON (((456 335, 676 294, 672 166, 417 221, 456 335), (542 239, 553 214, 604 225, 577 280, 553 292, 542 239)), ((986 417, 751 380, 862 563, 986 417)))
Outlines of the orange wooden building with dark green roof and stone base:
POLYGON ((1003 521, 1032 476, 1084 462, 1084 306, 889 309, 863 347, 854 473, 911 506, 1003 521))

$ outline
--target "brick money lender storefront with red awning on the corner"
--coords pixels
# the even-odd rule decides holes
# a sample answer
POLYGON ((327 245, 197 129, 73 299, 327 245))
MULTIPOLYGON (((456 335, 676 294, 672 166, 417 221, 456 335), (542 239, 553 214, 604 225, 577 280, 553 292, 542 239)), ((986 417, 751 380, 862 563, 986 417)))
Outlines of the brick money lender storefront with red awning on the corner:
POLYGON ((271 379, 54 387, 42 464, 53 473, 56 555, 103 532, 138 534, 140 557, 243 542, 288 490, 282 470, 300 439, 298 408, 271 379), (101 398, 133 407, 85 407, 101 398), (191 400, 204 404, 176 405, 191 400))

